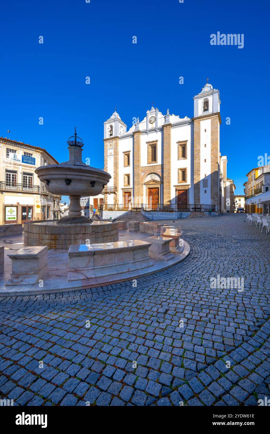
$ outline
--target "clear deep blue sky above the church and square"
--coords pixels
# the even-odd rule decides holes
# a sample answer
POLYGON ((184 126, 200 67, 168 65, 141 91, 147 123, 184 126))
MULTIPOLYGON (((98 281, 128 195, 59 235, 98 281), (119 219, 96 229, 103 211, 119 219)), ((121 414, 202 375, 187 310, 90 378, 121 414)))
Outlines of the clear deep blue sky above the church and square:
POLYGON ((115 106, 128 128, 152 100, 163 113, 192 117, 209 77, 220 90, 227 174, 243 194, 247 172, 270 154, 269 9, 260 0, 2 2, 0 135, 61 162, 76 125, 83 157, 101 168, 103 122, 115 106), (218 31, 244 33, 244 48, 211 46, 218 31))

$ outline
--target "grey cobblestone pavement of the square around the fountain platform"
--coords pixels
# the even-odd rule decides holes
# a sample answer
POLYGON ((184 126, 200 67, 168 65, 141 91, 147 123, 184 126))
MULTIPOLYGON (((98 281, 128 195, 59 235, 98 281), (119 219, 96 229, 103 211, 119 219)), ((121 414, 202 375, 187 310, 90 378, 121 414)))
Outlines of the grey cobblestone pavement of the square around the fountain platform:
POLYGON ((2 398, 162 406, 270 398, 270 234, 239 214, 173 224, 189 257, 137 287, 0 299, 2 398), (211 289, 217 275, 244 278, 244 291, 211 289))

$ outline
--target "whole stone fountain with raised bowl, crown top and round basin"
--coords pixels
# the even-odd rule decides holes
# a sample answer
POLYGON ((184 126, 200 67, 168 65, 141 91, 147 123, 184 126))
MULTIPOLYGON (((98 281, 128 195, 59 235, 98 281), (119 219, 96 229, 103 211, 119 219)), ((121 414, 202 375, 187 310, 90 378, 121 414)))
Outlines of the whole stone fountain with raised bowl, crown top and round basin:
POLYGON ((96 196, 111 179, 111 175, 83 163, 83 141, 75 135, 68 139, 69 159, 61 164, 49 164, 36 169, 38 178, 49 193, 67 195, 70 199, 68 216, 60 220, 29 222, 24 225, 26 246, 48 246, 48 249, 68 249, 71 244, 104 243, 118 240, 117 223, 90 220, 81 215, 81 196, 96 196))

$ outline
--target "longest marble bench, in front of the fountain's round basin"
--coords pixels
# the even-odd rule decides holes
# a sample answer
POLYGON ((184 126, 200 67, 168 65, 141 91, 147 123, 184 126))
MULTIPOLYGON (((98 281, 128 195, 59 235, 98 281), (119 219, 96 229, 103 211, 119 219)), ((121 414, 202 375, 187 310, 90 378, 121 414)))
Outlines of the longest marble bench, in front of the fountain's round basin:
POLYGON ((94 279, 152 266, 148 249, 140 240, 78 244, 68 250, 68 280, 94 279))

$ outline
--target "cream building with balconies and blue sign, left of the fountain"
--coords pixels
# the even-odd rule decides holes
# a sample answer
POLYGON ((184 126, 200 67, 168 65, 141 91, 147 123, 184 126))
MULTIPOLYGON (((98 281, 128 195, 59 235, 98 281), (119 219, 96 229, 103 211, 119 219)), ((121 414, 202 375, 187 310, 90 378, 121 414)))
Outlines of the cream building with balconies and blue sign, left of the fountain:
POLYGON ((0 137, 0 224, 60 218, 61 196, 51 194, 35 169, 58 164, 45 149, 0 137))

